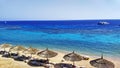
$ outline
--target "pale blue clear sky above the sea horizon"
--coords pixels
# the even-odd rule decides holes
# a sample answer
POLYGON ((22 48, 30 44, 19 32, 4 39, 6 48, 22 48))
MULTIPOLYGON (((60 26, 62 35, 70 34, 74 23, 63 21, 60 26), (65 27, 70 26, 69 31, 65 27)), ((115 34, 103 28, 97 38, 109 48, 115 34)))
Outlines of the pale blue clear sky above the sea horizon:
POLYGON ((120 0, 0 0, 0 19, 120 19, 120 0))

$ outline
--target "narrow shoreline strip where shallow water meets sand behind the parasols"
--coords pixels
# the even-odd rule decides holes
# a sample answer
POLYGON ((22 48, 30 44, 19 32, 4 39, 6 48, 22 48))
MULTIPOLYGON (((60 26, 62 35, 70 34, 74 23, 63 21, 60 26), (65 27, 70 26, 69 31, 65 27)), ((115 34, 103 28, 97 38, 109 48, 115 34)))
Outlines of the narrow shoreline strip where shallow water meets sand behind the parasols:
MULTIPOLYGON (((25 46, 25 45, 23 45, 23 44, 17 44, 17 45, 22 45, 22 46, 24 46, 24 47, 26 47, 26 48, 28 48, 29 47, 29 45, 30 44, 25 44, 25 45, 27 45, 27 46, 25 46)), ((14 45, 13 45, 14 46, 14 45)), ((51 45, 50 45, 51 46, 51 45)), ((83 50, 72 50, 72 49, 64 49, 64 48, 55 48, 55 47, 50 47, 49 45, 47 46, 47 45, 45 45, 45 46, 43 46, 42 47, 42 45, 39 45, 39 44, 32 44, 32 47, 33 48, 37 48, 37 49, 39 49, 40 51, 41 50, 45 50, 46 48, 48 48, 48 49, 50 49, 50 50, 54 50, 54 51, 58 51, 58 52, 62 52, 62 53, 70 53, 70 52, 73 52, 73 51, 75 51, 76 53, 78 53, 78 54, 80 54, 80 55, 84 55, 84 56, 92 56, 92 57, 101 57, 101 54, 103 54, 103 56, 105 57, 105 58, 112 58, 112 59, 119 59, 120 60, 120 56, 118 55, 116 55, 116 54, 109 54, 109 53, 107 53, 107 54, 105 54, 105 53, 100 53, 100 52, 88 52, 88 51, 83 51, 83 50), (81 51, 81 52, 80 52, 81 51)))

